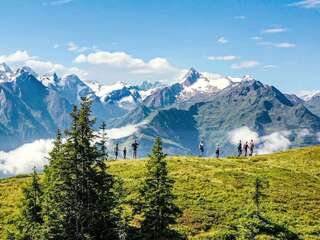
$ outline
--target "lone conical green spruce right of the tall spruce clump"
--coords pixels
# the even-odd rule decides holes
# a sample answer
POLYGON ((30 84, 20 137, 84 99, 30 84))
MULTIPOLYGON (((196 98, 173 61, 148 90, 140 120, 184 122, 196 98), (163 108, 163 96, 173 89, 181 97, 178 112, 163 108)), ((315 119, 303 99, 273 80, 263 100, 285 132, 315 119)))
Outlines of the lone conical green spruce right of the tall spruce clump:
POLYGON ((168 176, 166 154, 162 151, 162 142, 156 138, 147 161, 147 176, 140 188, 139 204, 136 212, 141 213, 142 239, 168 239, 171 236, 170 224, 176 223, 181 214, 174 204, 172 193, 174 181, 168 176))

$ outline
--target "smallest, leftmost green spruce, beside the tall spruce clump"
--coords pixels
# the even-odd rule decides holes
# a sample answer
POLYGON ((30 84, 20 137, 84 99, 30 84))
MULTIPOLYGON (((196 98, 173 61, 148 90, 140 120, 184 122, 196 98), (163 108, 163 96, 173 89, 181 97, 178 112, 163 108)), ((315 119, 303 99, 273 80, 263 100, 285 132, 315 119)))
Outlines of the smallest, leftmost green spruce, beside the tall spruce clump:
POLYGON ((15 221, 14 239, 33 240, 41 237, 41 197, 42 190, 36 168, 33 169, 31 183, 23 189, 23 197, 19 204, 19 214, 15 221))

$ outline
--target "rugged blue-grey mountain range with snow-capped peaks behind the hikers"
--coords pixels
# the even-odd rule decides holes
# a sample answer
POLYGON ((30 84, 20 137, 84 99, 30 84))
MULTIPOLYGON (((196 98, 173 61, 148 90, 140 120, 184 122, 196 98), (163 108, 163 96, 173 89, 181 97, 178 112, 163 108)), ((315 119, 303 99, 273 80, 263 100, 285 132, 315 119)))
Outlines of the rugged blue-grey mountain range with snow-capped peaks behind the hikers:
POLYGON ((0 150, 54 137, 58 128, 68 126, 69 112, 81 97, 92 100, 97 126, 107 123, 110 148, 137 139, 141 155, 150 151, 155 136, 163 138, 170 154, 196 154, 200 139, 207 154, 216 144, 231 154, 235 147, 230 132, 243 127, 264 139, 264 147, 274 144, 276 140, 266 138, 274 133, 290 141, 290 147, 319 142, 320 94, 302 99, 250 76, 225 77, 191 68, 172 84, 101 85, 76 75, 38 75, 29 67, 13 71, 2 63, 0 150))

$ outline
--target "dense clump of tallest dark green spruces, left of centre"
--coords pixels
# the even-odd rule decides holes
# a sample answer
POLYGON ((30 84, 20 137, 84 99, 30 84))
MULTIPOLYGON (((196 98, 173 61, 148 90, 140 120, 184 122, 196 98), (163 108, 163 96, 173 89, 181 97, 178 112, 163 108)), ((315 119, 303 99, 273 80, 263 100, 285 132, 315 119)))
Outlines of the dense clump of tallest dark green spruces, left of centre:
POLYGON ((71 117, 66 142, 57 137, 45 171, 46 235, 49 239, 117 239, 115 180, 107 173, 104 153, 94 144, 91 101, 83 98, 71 117))

